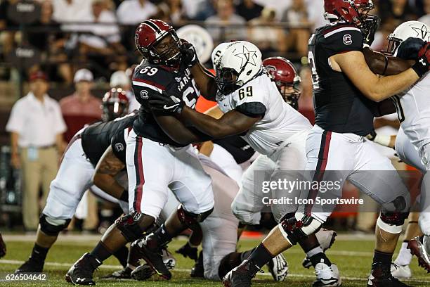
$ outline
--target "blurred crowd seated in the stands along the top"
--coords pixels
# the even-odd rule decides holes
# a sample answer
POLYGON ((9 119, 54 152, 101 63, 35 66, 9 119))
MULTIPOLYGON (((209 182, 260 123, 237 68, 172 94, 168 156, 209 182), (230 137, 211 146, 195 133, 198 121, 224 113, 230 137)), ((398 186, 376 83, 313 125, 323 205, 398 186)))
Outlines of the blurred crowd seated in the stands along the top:
MULTIPOLYGON (((307 54, 311 32, 326 23, 323 0, 34 0, 40 6, 39 19, 23 26, 10 13, 19 1, 0 0, 0 62, 17 46, 30 45, 41 53, 39 62, 51 79, 65 84, 72 84, 73 72, 85 65, 91 64, 96 77, 107 79, 136 63, 134 29, 149 18, 176 28, 200 21, 215 44, 247 39, 263 56, 284 54, 297 61, 307 54)), ((399 23, 417 18, 430 22, 430 0, 374 4, 372 13, 382 18, 378 49, 399 23)))

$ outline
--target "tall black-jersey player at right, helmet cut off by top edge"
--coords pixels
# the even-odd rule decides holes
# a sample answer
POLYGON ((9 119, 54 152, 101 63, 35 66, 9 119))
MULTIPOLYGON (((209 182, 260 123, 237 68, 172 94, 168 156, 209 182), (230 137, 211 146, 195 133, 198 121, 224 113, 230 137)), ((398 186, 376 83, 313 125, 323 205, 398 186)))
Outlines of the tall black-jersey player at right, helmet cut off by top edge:
MULTIPOLYGON (((363 143, 363 136, 373 129, 372 110, 377 108, 372 101, 382 101, 417 82, 429 69, 430 51, 422 46, 419 60, 412 68, 399 75, 378 77, 365 62, 360 30, 369 19, 367 13, 372 2, 325 0, 324 5, 325 16, 331 23, 318 28, 309 40, 315 126, 307 140, 306 170, 313 172, 316 181, 348 179, 383 205, 384 211, 377 220, 377 243, 367 286, 406 286, 391 276, 390 266, 403 221, 408 215, 410 197, 391 162, 363 143), (382 178, 379 172, 366 170, 391 173, 384 173, 382 178), (385 178, 387 174, 389 178, 385 178)), ((316 196, 318 189, 311 189, 308 198, 315 199, 316 196)), ((314 208, 306 205, 304 212, 297 212, 278 229, 273 229, 250 260, 226 276, 226 285, 249 286, 260 266, 256 262, 268 261, 294 245, 297 238, 318 230, 330 212, 319 212, 314 208), (240 281, 242 284, 238 283, 240 281), (245 281, 247 283, 243 283, 245 281)))

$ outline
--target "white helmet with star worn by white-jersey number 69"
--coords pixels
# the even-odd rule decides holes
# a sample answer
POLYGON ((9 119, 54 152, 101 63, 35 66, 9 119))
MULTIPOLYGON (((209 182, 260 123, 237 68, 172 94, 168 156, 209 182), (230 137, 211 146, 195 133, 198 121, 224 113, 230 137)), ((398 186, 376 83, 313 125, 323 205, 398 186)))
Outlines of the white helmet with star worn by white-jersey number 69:
POLYGON ((261 71, 263 67, 261 51, 257 46, 246 41, 221 45, 217 46, 212 53, 216 84, 222 94, 230 94, 254 79, 261 71))

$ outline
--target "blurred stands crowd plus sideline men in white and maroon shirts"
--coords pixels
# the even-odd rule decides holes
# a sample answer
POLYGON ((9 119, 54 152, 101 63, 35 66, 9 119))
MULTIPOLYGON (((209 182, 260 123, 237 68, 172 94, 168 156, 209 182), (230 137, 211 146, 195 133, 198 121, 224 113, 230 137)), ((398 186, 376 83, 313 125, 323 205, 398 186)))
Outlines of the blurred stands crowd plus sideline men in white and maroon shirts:
MULTIPOLYGON (((297 68, 301 67, 300 111, 313 122, 311 72, 306 67, 306 55, 311 33, 327 23, 323 0, 34 0, 40 13, 32 23, 13 17, 11 7, 18 2, 22 1, 0 0, 0 68, 6 67, 0 69, 0 81, 12 78, 16 66, 11 64, 10 55, 18 47, 29 46, 38 51, 39 59, 20 70, 29 85, 13 107, 6 126, 7 132, 17 134, 11 145, 13 167, 22 167, 32 156, 39 160, 37 165, 34 160, 27 162, 27 168, 39 170, 26 179, 34 183, 25 186, 22 202, 27 230, 37 227, 39 207, 44 204, 49 182, 56 173, 51 167, 58 165, 59 157, 54 154, 62 154, 67 141, 85 124, 100 120, 101 101, 92 94, 94 82, 105 81, 105 90, 110 86, 129 91, 133 109, 129 67, 139 60, 134 30, 143 20, 159 18, 176 28, 195 23, 209 31, 215 45, 246 39, 259 46, 263 57, 290 58, 297 68), (58 103, 49 95, 50 86, 55 85, 74 91, 54 96, 62 98, 58 103), (34 127, 22 125, 23 115, 29 109, 40 112, 34 127), (32 136, 19 142, 20 134, 32 136), (41 146, 41 152, 34 155, 29 146, 41 146), (18 153, 19 148, 25 153, 18 153), (43 196, 39 197, 39 191, 43 196)), ((386 48, 386 37, 406 20, 430 25, 430 0, 374 0, 374 4, 376 9, 371 13, 382 19, 372 45, 375 50, 386 48)), ((210 67, 210 63, 207 65, 210 67)), ((395 129, 398 123, 385 120, 383 126, 395 129)), ((392 132, 395 134, 395 130, 392 132)), ((88 197, 85 217, 95 204, 90 194, 88 197)), ((373 219, 370 226, 360 229, 372 229, 373 219)), ((87 229, 96 225, 97 220, 93 220, 87 229)))

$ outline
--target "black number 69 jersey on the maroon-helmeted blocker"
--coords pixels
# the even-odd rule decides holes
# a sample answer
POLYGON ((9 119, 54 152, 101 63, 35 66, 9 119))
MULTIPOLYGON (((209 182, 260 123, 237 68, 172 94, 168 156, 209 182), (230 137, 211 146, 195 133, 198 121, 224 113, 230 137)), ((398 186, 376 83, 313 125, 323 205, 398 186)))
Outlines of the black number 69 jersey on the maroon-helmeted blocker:
POLYGON ((163 65, 153 65, 143 60, 134 70, 132 87, 134 96, 141 103, 138 120, 133 125, 136 134, 162 144, 181 146, 159 127, 150 111, 148 99, 154 93, 165 91, 165 94, 178 96, 183 99, 185 105, 195 108, 200 91, 190 70, 183 65, 173 69, 163 65))

